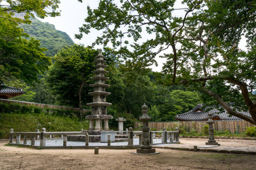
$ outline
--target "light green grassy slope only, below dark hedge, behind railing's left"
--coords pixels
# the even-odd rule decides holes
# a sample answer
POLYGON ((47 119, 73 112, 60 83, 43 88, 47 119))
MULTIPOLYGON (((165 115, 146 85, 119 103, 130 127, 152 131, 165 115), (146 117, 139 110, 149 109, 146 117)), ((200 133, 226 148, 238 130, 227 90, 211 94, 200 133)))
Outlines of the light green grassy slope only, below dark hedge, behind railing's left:
POLYGON ((47 131, 80 131, 88 129, 87 121, 78 118, 60 117, 55 115, 32 115, 29 113, 0 113, 0 138, 8 138, 11 128, 16 132, 36 132, 37 129, 46 128, 47 131))

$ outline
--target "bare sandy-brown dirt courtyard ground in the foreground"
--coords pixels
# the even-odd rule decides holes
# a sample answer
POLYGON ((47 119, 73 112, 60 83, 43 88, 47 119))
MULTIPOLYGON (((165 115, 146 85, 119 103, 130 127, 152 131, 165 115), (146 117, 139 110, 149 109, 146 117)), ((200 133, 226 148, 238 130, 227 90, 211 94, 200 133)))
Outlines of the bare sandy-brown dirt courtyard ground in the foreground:
MULTIPOLYGON (((184 145, 204 145, 206 139, 180 139, 184 145)), ((256 141, 218 140, 221 145, 256 147, 256 141)), ((0 169, 255 169, 256 155, 156 149, 160 154, 132 154, 135 149, 31 149, 4 146, 0 169)))

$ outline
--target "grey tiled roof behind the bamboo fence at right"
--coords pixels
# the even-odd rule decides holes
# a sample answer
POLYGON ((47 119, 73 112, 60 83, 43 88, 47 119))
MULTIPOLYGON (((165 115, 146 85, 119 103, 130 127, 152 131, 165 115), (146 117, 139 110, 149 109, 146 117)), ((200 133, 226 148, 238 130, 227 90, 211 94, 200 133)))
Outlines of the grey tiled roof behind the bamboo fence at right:
MULTIPOLYGON (((201 121, 208 120, 208 113, 211 111, 213 113, 213 118, 216 120, 242 120, 241 118, 230 116, 225 109, 223 111, 218 110, 218 108, 213 106, 208 106, 206 108, 202 108, 202 104, 198 104, 195 108, 187 113, 182 113, 175 116, 175 119, 180 121, 201 121), (211 109, 212 108, 212 109, 211 109)), ((220 106, 222 107, 222 106, 220 106)), ((230 106, 233 108, 233 106, 230 106)), ((250 113, 239 111, 239 113, 243 113, 244 115, 250 116, 250 113)))

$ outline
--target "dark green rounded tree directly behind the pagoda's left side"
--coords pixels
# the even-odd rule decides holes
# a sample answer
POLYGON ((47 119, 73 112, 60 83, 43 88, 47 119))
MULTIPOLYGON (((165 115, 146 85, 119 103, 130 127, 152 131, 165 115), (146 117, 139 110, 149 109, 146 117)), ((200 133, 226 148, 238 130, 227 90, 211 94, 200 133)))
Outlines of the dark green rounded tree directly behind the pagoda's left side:
POLYGON ((57 52, 46 80, 58 104, 82 108, 92 101, 88 92, 92 89, 89 84, 92 84, 96 55, 96 50, 82 45, 65 47, 57 52))

